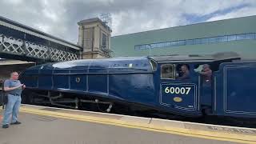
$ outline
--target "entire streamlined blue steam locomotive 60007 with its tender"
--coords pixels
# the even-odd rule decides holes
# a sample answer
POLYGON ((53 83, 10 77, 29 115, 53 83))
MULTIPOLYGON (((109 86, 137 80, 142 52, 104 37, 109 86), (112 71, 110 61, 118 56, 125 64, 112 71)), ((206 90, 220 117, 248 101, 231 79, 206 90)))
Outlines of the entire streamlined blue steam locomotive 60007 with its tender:
POLYGON ((25 70, 22 97, 73 108, 93 103, 107 105, 107 111, 121 105, 185 117, 256 118, 255 74, 256 61, 242 61, 232 52, 76 60, 25 70), (213 72, 208 83, 198 74, 203 64, 213 72), (178 78, 182 65, 190 78, 178 78))

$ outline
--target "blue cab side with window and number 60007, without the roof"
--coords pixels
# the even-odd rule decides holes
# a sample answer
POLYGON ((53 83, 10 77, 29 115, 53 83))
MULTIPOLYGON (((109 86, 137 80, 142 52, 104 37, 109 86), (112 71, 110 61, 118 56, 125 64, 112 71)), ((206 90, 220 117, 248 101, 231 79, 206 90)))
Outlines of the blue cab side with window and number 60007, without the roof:
MULTIPOLYGON (((199 94, 203 90, 201 76, 194 71, 194 63, 168 62, 160 64, 160 98, 162 106, 178 113, 199 114, 199 94)), ((208 94, 210 97, 211 94, 208 94)))

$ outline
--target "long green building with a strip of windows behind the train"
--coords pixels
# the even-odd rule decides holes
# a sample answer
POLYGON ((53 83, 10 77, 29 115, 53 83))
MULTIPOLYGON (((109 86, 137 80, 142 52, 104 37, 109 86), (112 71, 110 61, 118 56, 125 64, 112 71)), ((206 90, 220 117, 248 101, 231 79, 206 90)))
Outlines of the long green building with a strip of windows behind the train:
POLYGON ((111 49, 114 57, 234 51, 256 58, 256 16, 118 35, 111 49))

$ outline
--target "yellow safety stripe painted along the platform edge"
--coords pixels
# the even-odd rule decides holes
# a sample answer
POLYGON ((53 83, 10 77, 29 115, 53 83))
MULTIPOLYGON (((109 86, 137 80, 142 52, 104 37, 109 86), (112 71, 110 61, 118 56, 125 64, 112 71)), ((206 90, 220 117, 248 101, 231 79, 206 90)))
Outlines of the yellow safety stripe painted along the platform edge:
MULTIPOLYGON (((67 114, 56 111, 48 111, 48 110, 38 110, 33 108, 26 108, 26 106, 21 107, 21 112, 30 113, 30 114, 40 114, 52 116, 55 118, 66 118, 84 122, 96 122, 106 125, 113 126, 122 126, 127 128, 134 128, 140 130, 150 130, 161 133, 168 134, 178 134, 182 136, 189 136, 194 138, 206 138, 213 140, 221 140, 221 141, 229 141, 229 142, 242 142, 242 143, 256 143, 256 135, 245 135, 245 134, 230 134, 224 133, 220 131, 207 131, 207 130, 195 130, 195 129, 186 129, 186 128, 178 128, 172 126, 160 126, 157 124, 148 124, 142 122, 126 122, 122 119, 114 119, 114 118, 98 118, 88 115, 80 115, 80 114, 67 114)), ((86 114, 86 113, 85 113, 86 114)))

